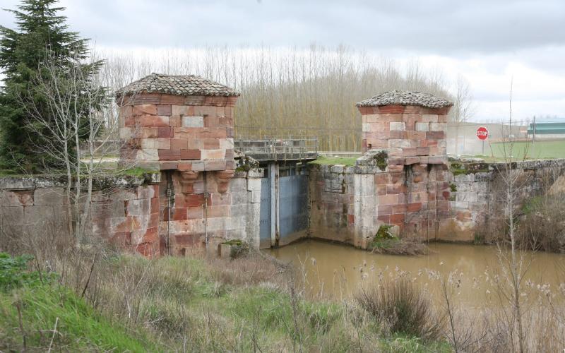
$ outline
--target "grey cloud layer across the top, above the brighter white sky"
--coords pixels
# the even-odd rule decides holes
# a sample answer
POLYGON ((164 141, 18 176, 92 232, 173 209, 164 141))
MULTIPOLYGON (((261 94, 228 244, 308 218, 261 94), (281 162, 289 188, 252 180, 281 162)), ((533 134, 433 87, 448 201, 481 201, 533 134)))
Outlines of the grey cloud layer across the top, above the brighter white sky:
MULTIPOLYGON (((14 0, 4 0, 13 8, 14 0)), ((563 0, 66 0, 72 27, 113 47, 347 44, 464 56, 565 45, 563 0)), ((8 24, 11 16, 0 14, 8 24)))

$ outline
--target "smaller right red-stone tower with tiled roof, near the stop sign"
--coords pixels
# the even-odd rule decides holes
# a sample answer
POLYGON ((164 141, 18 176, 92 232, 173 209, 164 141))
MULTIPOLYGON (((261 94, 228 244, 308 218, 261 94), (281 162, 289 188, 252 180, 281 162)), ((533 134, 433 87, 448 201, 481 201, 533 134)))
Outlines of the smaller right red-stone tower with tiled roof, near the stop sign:
MULTIPOLYGON (((446 126, 453 103, 422 92, 393 90, 357 103, 362 114, 363 164, 380 159, 374 174, 372 227, 396 225, 403 234, 435 237, 448 217, 446 126)), ((371 169, 374 170, 374 169, 371 169)), ((371 232, 373 231, 371 230, 371 232)), ((361 234, 359 244, 370 234, 361 234)))

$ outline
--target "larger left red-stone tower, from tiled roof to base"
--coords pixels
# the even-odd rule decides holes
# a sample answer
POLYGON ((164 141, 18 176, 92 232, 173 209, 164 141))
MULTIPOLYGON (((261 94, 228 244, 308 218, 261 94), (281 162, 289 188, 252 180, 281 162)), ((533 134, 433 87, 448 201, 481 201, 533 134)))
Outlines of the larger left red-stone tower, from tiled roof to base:
POLYGON ((125 141, 120 163, 161 173, 156 186, 160 253, 182 254, 225 238, 254 237, 251 228, 258 229, 253 223, 248 227, 254 216, 248 193, 261 183, 246 173, 234 175, 238 96, 198 76, 157 73, 118 91, 125 141))

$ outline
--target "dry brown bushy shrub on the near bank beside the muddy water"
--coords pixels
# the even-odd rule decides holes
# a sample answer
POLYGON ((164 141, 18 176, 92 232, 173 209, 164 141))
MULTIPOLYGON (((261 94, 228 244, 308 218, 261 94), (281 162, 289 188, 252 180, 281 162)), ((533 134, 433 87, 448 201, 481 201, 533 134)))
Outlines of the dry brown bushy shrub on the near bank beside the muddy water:
POLYGON ((391 333, 424 340, 436 340, 441 336, 445 317, 434 313, 430 299, 408 278, 402 277, 362 289, 355 299, 391 333))

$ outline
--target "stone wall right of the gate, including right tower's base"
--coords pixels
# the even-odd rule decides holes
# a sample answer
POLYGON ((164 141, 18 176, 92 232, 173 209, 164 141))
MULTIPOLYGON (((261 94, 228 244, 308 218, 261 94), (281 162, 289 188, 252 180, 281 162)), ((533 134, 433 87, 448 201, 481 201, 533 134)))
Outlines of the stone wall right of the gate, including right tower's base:
MULTIPOLYGON (((520 208, 541 192, 542 178, 565 173, 565 160, 518 162, 516 170, 525 181, 517 190, 520 208)), ((496 215, 504 215, 502 164, 452 161, 449 169, 415 164, 406 171, 404 189, 405 177, 378 168, 310 165, 309 235, 364 247, 381 225, 398 225, 401 237, 470 242, 494 232, 496 215), (429 192, 422 191, 426 184, 429 192)))

